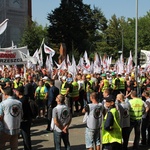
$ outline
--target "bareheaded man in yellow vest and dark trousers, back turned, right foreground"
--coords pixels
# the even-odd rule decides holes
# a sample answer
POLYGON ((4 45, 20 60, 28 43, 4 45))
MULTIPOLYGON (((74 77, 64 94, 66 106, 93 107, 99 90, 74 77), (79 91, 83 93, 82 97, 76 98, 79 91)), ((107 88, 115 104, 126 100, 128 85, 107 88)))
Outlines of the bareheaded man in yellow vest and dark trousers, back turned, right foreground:
POLYGON ((136 91, 131 91, 131 100, 129 100, 129 114, 130 114, 130 131, 134 128, 135 138, 133 143, 133 149, 139 149, 139 141, 140 141, 140 125, 141 119, 144 111, 148 111, 147 105, 142 101, 141 98, 137 97, 136 91))

